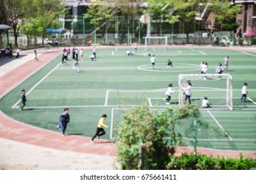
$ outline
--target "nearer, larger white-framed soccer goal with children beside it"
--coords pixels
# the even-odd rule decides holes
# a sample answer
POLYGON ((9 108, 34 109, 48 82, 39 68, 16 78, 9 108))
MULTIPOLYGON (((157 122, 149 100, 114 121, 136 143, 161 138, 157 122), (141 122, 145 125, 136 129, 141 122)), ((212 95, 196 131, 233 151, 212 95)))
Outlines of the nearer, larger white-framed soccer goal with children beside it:
POLYGON ((184 104, 188 81, 192 84, 192 103, 201 105, 207 97, 211 108, 232 110, 232 76, 229 74, 179 75, 179 106, 184 104))

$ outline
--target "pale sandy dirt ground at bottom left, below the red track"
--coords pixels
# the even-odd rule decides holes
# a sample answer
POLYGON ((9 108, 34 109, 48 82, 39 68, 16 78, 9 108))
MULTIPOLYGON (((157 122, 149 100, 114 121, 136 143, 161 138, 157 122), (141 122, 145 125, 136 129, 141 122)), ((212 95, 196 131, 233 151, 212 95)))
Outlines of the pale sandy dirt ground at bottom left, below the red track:
POLYGON ((66 152, 0 138, 1 170, 112 170, 116 158, 66 152))

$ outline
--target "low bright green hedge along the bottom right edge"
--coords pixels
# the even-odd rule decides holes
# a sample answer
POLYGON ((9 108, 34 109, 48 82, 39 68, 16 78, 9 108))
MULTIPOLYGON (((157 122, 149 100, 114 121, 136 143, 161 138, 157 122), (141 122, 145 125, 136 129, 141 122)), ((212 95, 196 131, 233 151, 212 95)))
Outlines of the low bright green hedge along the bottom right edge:
POLYGON ((256 168, 256 159, 243 158, 213 158, 204 154, 182 154, 172 156, 167 165, 169 170, 248 170, 256 168))

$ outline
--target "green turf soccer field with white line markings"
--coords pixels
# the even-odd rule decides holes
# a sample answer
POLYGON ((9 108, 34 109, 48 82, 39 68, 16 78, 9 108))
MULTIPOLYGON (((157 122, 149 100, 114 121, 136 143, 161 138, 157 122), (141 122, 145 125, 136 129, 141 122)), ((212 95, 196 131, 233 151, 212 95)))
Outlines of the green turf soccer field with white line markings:
MULTIPOLYGON (((1 110, 12 118, 41 128, 56 129, 63 108, 70 108, 71 122, 66 133, 92 137, 102 114, 107 114, 107 134, 102 138, 114 140, 114 129, 121 122, 121 109, 148 103, 154 110, 164 110, 165 90, 169 83, 176 90, 170 101, 178 103, 179 74, 200 74, 200 62, 207 61, 209 73, 215 73, 219 62, 229 56, 228 73, 232 76, 233 110, 212 107, 201 110, 201 120, 228 131, 219 134, 212 129, 199 129, 198 146, 232 150, 256 151, 256 54, 213 48, 150 47, 146 52, 156 56, 156 69, 150 57, 138 48, 138 56, 125 56, 130 48, 105 48, 97 50, 96 61, 90 61, 91 50, 84 50, 84 61, 79 61, 80 73, 72 69, 73 61, 61 65, 61 56, 25 80, 1 99, 1 110), (173 67, 167 68, 167 60, 173 67), (247 102, 241 103, 241 88, 248 83, 247 102), (26 90, 25 110, 18 110, 20 91, 26 90), (125 107, 123 107, 125 105, 125 107)), ((202 87, 203 87, 202 80, 202 87)), ((222 81, 213 80, 212 88, 222 81)), ((200 105, 200 98, 209 96, 211 88, 194 90, 192 103, 200 105), (194 97, 194 100, 193 100, 194 97)), ((211 102, 211 98, 209 98, 211 102)), ((216 100, 216 96, 215 96, 216 100)), ((223 99, 220 99, 223 100, 223 99)), ((177 127, 184 133, 184 144, 193 146, 191 123, 177 127)), ((168 137, 167 137, 168 138, 168 137)))

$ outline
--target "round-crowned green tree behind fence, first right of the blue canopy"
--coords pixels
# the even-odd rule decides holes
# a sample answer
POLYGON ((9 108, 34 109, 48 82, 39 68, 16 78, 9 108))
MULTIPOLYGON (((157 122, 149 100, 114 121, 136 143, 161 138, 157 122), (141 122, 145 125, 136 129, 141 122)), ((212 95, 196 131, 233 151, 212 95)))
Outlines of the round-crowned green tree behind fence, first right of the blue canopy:
MULTIPOLYGON (((90 24, 96 25, 100 29, 102 35, 102 42, 105 43, 105 32, 108 26, 108 22, 113 17, 112 9, 109 3, 97 3, 96 5, 91 5, 88 8, 86 14, 83 14, 84 18, 90 18, 90 24)), ((95 30, 96 31, 96 30, 95 30)))

